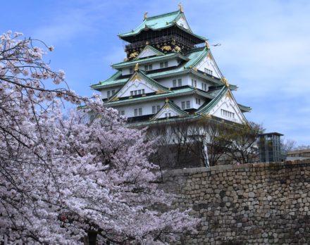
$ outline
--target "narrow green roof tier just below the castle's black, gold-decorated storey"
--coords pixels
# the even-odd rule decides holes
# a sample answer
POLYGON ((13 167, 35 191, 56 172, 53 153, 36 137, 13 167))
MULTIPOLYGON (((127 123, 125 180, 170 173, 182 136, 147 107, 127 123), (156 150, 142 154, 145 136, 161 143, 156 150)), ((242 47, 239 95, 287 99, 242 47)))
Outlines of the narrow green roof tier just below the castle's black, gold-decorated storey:
POLYGON ((184 61, 189 60, 189 58, 187 58, 186 56, 182 56, 182 54, 171 53, 171 54, 166 54, 165 56, 155 56, 155 57, 150 57, 150 58, 141 58, 141 59, 137 59, 134 61, 124 61, 124 62, 120 62, 120 63, 115 63, 111 66, 113 68, 120 69, 120 68, 126 68, 126 67, 130 67, 130 66, 134 66, 136 63, 139 63, 139 65, 142 65, 142 64, 152 63, 152 62, 156 62, 156 61, 157 62, 158 61, 166 61, 166 60, 170 60, 172 58, 182 58, 182 60, 184 60, 184 61))

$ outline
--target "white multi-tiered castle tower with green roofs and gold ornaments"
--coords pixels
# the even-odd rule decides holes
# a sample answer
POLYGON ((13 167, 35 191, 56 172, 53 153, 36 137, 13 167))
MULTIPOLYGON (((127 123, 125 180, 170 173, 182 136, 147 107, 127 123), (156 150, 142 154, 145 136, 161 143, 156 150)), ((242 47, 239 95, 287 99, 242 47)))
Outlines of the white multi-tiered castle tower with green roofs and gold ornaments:
POLYGON ((105 106, 116 108, 133 126, 202 117, 246 123, 251 108, 235 100, 214 60, 208 39, 194 34, 179 10, 147 16, 135 29, 118 34, 126 58, 116 72, 91 85, 105 106))

